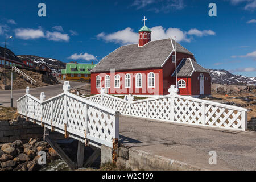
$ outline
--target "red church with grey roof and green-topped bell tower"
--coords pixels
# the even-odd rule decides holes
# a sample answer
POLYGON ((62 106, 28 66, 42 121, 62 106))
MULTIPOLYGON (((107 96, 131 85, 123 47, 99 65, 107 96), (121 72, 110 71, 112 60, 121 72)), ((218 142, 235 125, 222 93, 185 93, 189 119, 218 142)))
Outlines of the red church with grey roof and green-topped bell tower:
POLYGON ((196 62, 193 53, 171 38, 151 41, 151 30, 145 24, 138 39, 138 44, 119 47, 90 71, 92 94, 100 93, 101 88, 108 94, 169 94, 170 86, 176 85, 175 59, 179 94, 211 94, 209 72, 196 62))

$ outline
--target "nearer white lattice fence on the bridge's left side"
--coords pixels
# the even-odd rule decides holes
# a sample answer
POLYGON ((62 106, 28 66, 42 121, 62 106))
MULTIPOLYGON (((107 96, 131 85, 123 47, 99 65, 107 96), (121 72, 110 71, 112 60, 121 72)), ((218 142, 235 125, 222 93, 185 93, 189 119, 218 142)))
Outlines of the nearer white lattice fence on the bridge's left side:
POLYGON ((18 113, 83 142, 113 147, 113 141, 119 138, 119 113, 69 93, 68 82, 63 90, 64 93, 44 101, 44 93, 38 100, 27 88, 27 94, 17 100, 18 113))

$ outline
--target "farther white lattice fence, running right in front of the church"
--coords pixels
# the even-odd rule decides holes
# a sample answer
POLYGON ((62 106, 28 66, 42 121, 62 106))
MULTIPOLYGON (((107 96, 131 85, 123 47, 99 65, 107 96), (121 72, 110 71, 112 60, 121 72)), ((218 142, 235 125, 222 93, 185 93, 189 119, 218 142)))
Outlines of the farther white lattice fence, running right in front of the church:
POLYGON ((87 99, 117 110, 123 115, 189 125, 235 130, 247 129, 247 109, 180 96, 175 94, 175 86, 171 86, 170 93, 170 95, 157 98, 126 101, 105 94, 104 90, 101 90, 101 94, 88 97, 87 99))

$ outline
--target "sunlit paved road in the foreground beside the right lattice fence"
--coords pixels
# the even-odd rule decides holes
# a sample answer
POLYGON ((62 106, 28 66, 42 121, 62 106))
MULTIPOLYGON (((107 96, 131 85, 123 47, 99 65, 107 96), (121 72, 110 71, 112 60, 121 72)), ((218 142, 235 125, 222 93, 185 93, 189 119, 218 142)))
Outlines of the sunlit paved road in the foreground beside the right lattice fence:
POLYGON ((119 121, 121 135, 138 134, 133 139, 140 140, 141 136, 148 136, 151 141, 151 144, 135 146, 134 149, 203 169, 256 170, 256 133, 253 131, 234 134, 131 117, 120 117, 119 121), (154 137, 162 140, 152 142, 151 138, 154 137), (176 144, 160 144, 165 140, 176 144), (209 151, 216 151, 216 165, 209 165, 209 151))

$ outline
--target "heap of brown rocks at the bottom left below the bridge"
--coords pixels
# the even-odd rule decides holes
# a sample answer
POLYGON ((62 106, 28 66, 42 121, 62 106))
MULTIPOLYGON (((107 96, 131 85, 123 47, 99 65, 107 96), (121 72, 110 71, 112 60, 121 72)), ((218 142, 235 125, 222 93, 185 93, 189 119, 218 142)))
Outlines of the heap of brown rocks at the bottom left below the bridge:
POLYGON ((38 138, 28 143, 15 140, 13 143, 0 144, 0 171, 38 171, 43 165, 38 163, 39 151, 46 152, 46 162, 59 158, 49 144, 38 138))

